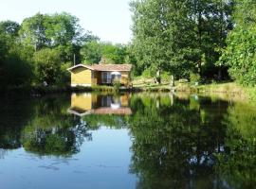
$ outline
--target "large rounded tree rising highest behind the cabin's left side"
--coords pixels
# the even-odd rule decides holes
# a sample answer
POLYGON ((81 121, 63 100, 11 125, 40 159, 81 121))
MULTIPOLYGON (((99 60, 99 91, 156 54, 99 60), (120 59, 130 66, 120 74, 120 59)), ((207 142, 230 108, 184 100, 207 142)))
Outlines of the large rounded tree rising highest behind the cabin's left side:
POLYGON ((27 18, 19 31, 22 43, 33 46, 35 51, 42 48, 57 48, 62 60, 72 61, 74 54, 81 60, 82 44, 92 39, 90 32, 84 34, 79 19, 69 13, 41 14, 27 18))

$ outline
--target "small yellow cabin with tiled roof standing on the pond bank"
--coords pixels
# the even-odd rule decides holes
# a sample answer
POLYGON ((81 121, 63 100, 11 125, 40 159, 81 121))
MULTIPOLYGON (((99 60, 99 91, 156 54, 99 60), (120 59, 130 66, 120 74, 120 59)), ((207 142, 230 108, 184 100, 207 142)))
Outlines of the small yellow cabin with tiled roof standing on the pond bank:
POLYGON ((78 64, 67 70, 71 73, 71 86, 111 85, 119 80, 121 85, 131 83, 131 64, 78 64))

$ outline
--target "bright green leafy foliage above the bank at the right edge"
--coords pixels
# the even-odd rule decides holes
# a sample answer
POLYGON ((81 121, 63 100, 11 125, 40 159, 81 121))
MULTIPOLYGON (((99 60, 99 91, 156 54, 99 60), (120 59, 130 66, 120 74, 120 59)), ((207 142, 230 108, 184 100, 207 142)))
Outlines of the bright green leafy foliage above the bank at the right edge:
POLYGON ((228 65, 231 77, 241 84, 256 86, 256 2, 238 1, 233 17, 236 25, 219 64, 228 65))

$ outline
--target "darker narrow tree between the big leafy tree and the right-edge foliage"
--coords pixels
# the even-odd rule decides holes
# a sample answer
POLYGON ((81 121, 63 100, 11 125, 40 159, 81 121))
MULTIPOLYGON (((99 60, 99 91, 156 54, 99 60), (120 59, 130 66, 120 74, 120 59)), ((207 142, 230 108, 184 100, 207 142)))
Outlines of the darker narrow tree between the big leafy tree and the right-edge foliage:
POLYGON ((192 0, 189 8, 195 36, 192 43, 196 49, 194 64, 200 76, 213 77, 220 49, 226 46, 227 35, 233 26, 230 19, 233 0, 192 0))

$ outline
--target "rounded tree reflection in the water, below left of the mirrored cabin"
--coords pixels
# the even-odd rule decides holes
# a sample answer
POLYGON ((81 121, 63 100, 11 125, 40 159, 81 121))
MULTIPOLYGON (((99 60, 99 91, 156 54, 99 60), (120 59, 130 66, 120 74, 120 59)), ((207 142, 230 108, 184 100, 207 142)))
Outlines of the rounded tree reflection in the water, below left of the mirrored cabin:
POLYGON ((65 102, 53 98, 37 104, 33 118, 23 130, 22 144, 27 151, 67 156, 79 151, 84 137, 91 139, 85 123, 67 114, 65 102))

